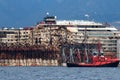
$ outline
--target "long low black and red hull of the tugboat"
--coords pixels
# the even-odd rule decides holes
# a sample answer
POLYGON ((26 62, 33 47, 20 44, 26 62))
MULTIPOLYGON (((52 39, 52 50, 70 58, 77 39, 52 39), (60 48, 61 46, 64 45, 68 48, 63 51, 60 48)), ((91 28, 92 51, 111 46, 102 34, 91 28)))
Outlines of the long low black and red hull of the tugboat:
POLYGON ((92 63, 67 63, 67 67, 118 67, 119 61, 92 63))

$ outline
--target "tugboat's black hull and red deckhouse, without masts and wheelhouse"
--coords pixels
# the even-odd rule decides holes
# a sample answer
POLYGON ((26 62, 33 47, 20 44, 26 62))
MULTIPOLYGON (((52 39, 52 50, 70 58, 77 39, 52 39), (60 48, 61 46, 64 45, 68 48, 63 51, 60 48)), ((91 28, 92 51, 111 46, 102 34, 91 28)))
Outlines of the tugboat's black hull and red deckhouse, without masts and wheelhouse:
POLYGON ((93 56, 93 62, 87 63, 87 62, 78 62, 73 63, 69 62, 67 63, 67 67, 118 67, 119 60, 118 59, 111 59, 107 57, 94 57, 93 56))

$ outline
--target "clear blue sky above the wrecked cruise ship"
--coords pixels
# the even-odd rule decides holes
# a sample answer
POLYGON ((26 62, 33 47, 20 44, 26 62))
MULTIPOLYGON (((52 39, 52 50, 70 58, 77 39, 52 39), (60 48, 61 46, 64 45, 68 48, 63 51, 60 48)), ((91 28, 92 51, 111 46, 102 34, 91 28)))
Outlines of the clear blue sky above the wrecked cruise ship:
POLYGON ((93 20, 120 27, 120 0, 0 0, 0 27, 33 26, 47 12, 58 20, 93 20))

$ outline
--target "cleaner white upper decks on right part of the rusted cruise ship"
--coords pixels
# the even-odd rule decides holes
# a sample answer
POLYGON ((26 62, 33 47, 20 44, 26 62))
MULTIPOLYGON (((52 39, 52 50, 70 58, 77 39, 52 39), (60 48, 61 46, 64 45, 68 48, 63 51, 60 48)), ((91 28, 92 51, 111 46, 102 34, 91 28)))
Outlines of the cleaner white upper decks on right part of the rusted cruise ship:
POLYGON ((87 31, 87 43, 101 41, 105 55, 117 56, 117 43, 120 38, 120 32, 108 23, 96 23, 94 21, 84 20, 61 20, 57 25, 64 25, 74 33, 74 42, 82 43, 84 32, 87 31))

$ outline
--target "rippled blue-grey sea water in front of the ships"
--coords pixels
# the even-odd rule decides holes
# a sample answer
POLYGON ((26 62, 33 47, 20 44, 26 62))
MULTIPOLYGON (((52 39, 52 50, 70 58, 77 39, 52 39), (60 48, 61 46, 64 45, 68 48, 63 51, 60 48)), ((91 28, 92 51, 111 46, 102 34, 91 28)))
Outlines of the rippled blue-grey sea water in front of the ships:
POLYGON ((0 67, 0 80, 120 80, 120 67, 0 67))

